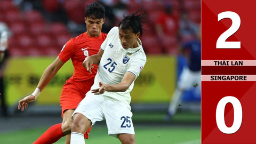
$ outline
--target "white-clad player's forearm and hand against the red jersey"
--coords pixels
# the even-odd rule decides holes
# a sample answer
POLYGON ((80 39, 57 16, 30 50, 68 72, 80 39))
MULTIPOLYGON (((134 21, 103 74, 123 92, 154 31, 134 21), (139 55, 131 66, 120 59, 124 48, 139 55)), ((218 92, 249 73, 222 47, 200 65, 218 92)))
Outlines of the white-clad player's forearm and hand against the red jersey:
POLYGON ((99 50, 97 54, 91 55, 90 57, 86 57, 83 62, 83 66, 92 73, 91 69, 93 68, 92 64, 99 65, 100 59, 102 57, 102 54, 104 52, 102 50, 99 50))

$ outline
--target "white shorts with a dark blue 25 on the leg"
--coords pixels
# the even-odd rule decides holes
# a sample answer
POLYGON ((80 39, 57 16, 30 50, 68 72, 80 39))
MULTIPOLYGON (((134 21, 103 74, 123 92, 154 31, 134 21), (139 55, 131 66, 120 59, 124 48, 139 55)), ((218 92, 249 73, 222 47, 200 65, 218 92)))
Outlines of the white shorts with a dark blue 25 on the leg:
MULTIPOLYGON (((81 113, 91 120, 92 125, 106 119, 108 135, 117 138, 117 134, 135 134, 130 105, 106 95, 95 95, 89 91, 79 103, 73 115, 81 113)), ((73 116, 72 115, 72 116, 73 116)))

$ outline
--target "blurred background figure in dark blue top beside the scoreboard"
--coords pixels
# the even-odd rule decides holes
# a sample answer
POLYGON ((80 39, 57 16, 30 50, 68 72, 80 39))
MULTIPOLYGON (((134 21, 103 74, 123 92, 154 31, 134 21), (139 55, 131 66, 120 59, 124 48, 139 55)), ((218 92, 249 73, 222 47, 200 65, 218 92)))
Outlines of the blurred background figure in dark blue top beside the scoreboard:
POLYGON ((186 90, 198 86, 201 92, 201 28, 195 31, 193 27, 187 27, 186 30, 191 30, 190 34, 194 38, 186 41, 181 46, 181 53, 187 61, 187 66, 183 67, 177 88, 172 95, 165 121, 170 121, 176 113, 178 106, 181 106, 181 97, 186 90))

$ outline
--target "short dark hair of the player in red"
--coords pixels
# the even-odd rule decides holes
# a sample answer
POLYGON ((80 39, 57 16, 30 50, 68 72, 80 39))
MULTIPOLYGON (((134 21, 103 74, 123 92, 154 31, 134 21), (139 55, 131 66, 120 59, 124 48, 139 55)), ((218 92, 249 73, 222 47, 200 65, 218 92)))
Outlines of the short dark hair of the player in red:
POLYGON ((102 19, 105 18, 105 7, 99 3, 92 3, 86 6, 85 17, 92 19, 102 19))

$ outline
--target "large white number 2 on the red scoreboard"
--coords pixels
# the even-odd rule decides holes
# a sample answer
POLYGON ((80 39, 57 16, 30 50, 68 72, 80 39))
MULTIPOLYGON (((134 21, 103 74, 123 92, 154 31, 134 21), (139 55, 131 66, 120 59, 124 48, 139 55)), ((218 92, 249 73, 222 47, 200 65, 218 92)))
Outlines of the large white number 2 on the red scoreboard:
POLYGON ((217 40, 217 49, 241 49, 241 42, 226 42, 226 40, 239 29, 241 25, 241 19, 239 15, 235 12, 222 12, 218 14, 218 21, 229 18, 232 20, 231 27, 221 34, 217 40))

